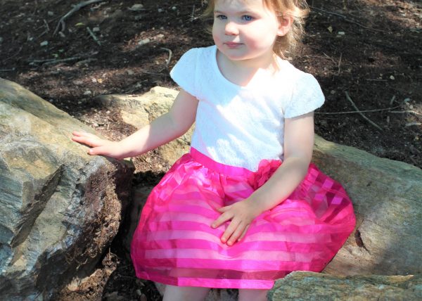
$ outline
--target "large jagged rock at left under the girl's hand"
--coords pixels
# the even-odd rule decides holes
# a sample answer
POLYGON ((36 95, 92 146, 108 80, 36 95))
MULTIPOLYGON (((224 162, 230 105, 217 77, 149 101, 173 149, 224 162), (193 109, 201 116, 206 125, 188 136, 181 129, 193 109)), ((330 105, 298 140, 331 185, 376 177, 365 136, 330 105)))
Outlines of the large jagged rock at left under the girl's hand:
POLYGON ((117 233, 134 168, 87 155, 73 130, 93 132, 0 79, 2 300, 49 299, 117 233))

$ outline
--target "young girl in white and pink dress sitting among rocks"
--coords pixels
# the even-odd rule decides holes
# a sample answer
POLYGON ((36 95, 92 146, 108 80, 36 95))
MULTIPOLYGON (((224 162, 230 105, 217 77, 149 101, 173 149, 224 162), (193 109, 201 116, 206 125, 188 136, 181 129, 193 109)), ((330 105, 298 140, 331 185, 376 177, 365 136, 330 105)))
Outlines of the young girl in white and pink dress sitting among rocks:
POLYGON ((91 155, 127 158, 184 134, 190 153, 149 196, 132 241, 136 275, 167 284, 164 300, 238 288, 265 300, 290 271, 321 271, 354 229, 340 184, 309 162, 316 79, 283 60, 305 15, 298 0, 208 1, 215 46, 170 73, 169 113, 120 142, 75 132, 91 155))

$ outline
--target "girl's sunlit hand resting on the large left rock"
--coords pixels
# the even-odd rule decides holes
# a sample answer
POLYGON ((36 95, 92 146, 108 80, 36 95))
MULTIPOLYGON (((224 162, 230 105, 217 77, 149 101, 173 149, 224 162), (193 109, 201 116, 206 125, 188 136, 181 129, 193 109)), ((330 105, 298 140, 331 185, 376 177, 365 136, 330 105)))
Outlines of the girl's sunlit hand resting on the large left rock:
POLYGON ((90 146, 89 155, 106 155, 107 157, 123 159, 124 154, 117 142, 101 139, 94 134, 73 132, 72 140, 90 146))

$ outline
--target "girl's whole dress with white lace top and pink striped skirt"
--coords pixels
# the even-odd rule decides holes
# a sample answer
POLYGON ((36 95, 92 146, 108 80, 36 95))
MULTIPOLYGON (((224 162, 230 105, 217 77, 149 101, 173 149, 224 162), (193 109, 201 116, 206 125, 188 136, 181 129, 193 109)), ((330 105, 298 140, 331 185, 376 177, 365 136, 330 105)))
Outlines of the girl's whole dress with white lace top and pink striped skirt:
POLYGON ((248 198, 282 164, 284 119, 324 103, 316 79, 281 61, 271 79, 250 87, 226 80, 216 49, 192 49, 172 78, 198 98, 191 152, 146 201, 134 232, 136 276, 173 286, 269 289, 291 271, 321 271, 352 233, 355 217, 343 187, 309 165, 279 205, 260 214, 238 243, 220 241, 219 207, 248 198))

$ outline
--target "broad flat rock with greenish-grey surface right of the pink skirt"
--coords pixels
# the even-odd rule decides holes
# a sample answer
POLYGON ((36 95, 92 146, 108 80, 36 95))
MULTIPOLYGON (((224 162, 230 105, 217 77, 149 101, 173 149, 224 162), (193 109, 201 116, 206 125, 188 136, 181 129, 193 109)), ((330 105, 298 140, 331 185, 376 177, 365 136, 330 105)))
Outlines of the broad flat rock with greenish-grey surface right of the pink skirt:
POLYGON ((357 227, 324 272, 422 273, 422 170, 317 137, 314 162, 343 183, 357 227))

